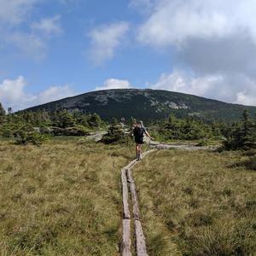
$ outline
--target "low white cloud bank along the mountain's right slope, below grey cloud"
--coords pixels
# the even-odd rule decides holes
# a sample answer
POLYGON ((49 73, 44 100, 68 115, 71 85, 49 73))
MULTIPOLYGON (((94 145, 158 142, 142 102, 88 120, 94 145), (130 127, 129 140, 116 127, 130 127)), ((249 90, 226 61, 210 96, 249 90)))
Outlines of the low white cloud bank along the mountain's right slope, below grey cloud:
POLYGON ((256 105, 256 83, 241 75, 233 78, 226 75, 200 77, 195 73, 175 70, 170 74, 162 74, 155 84, 150 85, 150 88, 183 92, 224 102, 256 105))

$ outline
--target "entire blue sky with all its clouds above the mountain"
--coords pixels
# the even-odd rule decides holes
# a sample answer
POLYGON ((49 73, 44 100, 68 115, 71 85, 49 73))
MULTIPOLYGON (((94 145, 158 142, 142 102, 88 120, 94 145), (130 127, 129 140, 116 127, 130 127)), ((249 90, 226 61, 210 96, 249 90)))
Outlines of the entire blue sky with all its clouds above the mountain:
POLYGON ((0 102, 172 90, 256 106, 256 0, 0 0, 0 102))

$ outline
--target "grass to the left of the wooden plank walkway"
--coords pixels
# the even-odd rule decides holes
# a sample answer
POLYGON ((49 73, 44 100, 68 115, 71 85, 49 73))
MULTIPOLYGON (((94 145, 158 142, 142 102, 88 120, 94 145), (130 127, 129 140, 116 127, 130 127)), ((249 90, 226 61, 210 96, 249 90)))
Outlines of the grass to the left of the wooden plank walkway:
POLYGON ((2 141, 0 254, 119 255, 119 172, 130 153, 75 138, 2 141))

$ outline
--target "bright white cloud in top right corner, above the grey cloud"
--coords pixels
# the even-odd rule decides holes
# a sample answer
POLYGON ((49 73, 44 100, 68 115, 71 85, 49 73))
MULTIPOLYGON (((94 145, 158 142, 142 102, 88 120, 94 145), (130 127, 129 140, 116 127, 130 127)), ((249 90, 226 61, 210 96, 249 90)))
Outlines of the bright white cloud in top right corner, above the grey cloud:
POLYGON ((226 38, 247 31, 256 42, 256 1, 159 0, 140 27, 145 44, 184 44, 189 38, 226 38))

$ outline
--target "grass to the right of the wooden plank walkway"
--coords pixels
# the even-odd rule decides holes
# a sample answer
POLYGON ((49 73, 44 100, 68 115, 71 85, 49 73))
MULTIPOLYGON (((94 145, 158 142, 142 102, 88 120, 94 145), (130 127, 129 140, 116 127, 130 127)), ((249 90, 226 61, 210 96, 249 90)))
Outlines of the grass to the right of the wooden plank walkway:
POLYGON ((134 170, 149 255, 256 253, 256 172, 241 154, 166 150, 134 170))

